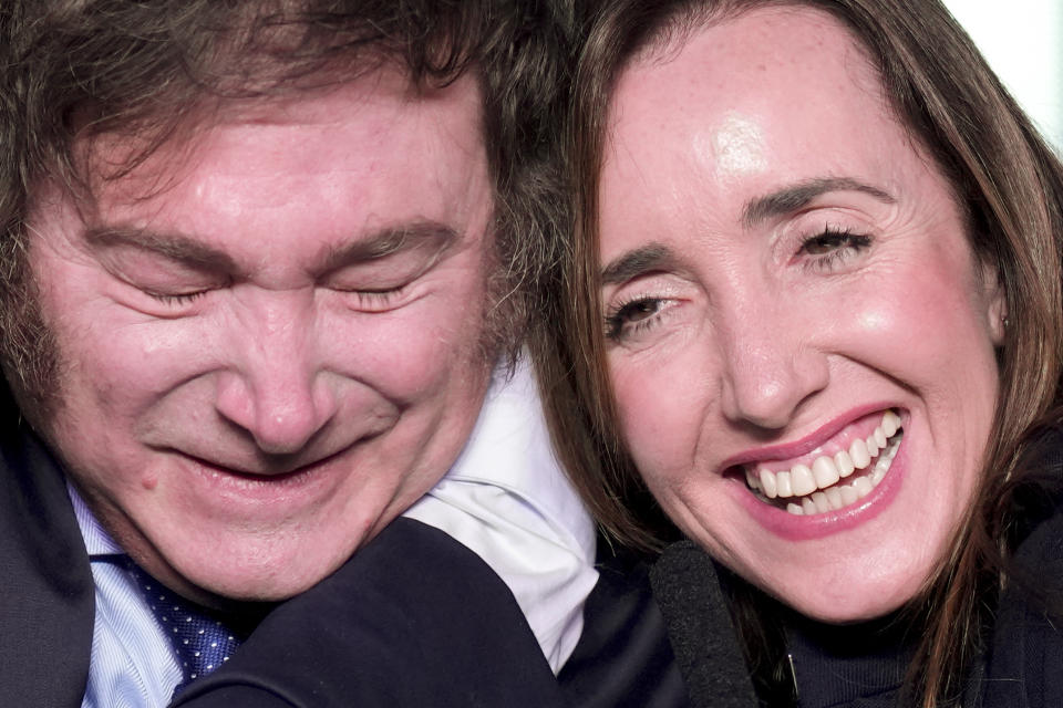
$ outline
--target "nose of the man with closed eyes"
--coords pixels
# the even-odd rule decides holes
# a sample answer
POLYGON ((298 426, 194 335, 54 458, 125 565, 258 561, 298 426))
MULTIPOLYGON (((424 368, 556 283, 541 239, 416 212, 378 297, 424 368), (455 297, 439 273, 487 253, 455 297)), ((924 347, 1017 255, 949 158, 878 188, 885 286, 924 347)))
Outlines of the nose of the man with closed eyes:
POLYGON ((319 363, 312 294, 265 293, 239 312, 229 368, 219 377, 218 413, 269 455, 298 452, 336 414, 319 363))

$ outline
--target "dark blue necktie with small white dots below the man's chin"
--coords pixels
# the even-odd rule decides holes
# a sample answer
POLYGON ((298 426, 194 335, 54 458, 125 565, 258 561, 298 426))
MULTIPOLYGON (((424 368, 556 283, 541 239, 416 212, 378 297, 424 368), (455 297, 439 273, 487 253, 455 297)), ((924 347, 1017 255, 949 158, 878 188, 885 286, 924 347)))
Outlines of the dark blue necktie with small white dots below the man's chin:
POLYGON ((171 592, 132 561, 128 571, 177 652, 184 679, 174 688, 175 696, 227 662, 245 638, 226 627, 216 613, 171 592))

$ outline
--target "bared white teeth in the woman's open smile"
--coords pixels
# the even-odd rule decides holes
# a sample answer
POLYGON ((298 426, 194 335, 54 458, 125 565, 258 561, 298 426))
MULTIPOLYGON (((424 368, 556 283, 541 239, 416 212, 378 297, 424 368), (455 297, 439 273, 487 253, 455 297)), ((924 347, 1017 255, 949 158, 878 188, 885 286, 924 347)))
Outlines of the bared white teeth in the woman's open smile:
POLYGON ((809 465, 773 469, 771 464, 744 465, 745 483, 758 499, 795 516, 830 513, 871 493, 889 471, 905 431, 894 410, 866 438, 823 455, 809 465))

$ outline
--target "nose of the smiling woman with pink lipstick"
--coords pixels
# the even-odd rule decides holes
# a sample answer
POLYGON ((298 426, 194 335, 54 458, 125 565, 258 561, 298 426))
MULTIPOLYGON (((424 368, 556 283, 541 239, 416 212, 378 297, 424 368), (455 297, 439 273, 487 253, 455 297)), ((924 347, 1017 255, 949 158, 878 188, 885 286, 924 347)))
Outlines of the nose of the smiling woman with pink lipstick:
POLYGON ((721 343, 721 406, 737 424, 777 430, 829 379, 817 333, 784 303, 735 309, 716 329, 721 343))

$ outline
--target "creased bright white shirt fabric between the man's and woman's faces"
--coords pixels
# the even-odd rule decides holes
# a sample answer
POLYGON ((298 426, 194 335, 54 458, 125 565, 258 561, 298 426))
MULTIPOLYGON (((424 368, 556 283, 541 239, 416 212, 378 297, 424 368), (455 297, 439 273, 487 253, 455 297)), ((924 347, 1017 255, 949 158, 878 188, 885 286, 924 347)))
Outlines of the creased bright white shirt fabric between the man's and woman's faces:
POLYGON ((522 362, 496 378, 461 457, 406 517, 472 549, 513 591, 554 673, 598 582, 595 524, 554 457, 536 382, 522 362))

